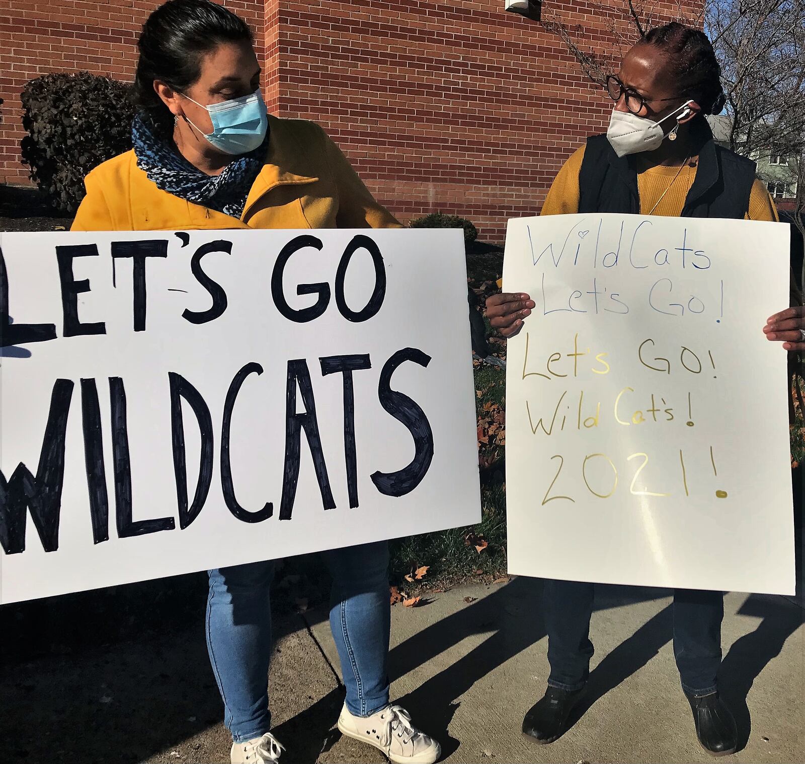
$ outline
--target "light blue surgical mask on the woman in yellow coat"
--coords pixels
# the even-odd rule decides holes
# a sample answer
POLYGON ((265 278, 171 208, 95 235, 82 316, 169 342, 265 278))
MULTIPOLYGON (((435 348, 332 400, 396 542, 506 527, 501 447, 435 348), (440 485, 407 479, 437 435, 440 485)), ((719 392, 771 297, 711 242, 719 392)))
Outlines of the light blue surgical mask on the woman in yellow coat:
MULTIPOLYGON (((183 94, 184 95, 184 94, 183 94)), ((209 113, 213 122, 213 132, 204 133, 188 119, 192 127, 203 135, 209 143, 225 154, 248 154, 260 146, 266 139, 268 116, 266 102, 262 100, 262 92, 258 89, 251 95, 232 98, 229 101, 204 106, 184 96, 196 106, 201 106, 209 113)))

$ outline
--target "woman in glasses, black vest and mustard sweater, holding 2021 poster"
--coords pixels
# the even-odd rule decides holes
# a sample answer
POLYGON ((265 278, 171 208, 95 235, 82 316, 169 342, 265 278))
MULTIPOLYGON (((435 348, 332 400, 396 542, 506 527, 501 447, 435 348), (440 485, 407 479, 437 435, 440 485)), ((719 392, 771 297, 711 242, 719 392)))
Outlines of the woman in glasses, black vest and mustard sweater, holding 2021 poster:
MULTIPOLYGON (((714 143, 705 114, 725 103, 720 68, 703 32, 667 24, 649 31, 607 81, 615 102, 607 135, 581 147, 559 171, 542 214, 638 213, 671 217, 777 220, 754 163, 714 143)), ((511 337, 535 307, 526 293, 489 297, 487 316, 511 337)), ((760 327, 758 327, 758 331, 760 327)), ((805 311, 775 314, 764 328, 786 351, 805 351, 805 311)), ((592 657, 592 583, 545 582, 551 675, 522 731, 550 743, 565 729, 592 657)), ((714 755, 737 748, 735 721, 718 695, 721 592, 676 590, 674 652, 696 734, 714 755)))

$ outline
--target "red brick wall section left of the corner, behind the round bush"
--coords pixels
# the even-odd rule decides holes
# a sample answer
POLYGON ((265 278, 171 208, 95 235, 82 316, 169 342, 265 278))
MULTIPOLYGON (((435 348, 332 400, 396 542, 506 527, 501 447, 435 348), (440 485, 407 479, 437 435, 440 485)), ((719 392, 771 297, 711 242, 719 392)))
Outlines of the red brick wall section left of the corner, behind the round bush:
MULTIPOLYGON (((19 93, 33 77, 87 71, 134 79, 137 37, 156 0, 0 0, 0 183, 27 183, 19 93)), ((248 21, 262 54, 263 0, 223 2, 248 21)), ((270 4, 270 3, 268 3, 270 4)))

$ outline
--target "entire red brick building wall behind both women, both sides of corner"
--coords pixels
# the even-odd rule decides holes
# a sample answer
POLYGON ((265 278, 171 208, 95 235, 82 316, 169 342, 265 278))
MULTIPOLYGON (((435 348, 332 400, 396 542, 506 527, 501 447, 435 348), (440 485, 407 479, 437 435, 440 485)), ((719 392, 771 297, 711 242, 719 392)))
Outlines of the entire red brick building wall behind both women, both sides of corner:
MULTIPOLYGON (((652 21, 701 0, 681 2, 654 4, 652 21)), ((80 69, 130 80, 142 20, 158 4, 0 0, 0 182, 27 181, 24 83, 80 69)), ((270 111, 320 122, 403 220, 461 214, 502 241, 506 218, 538 211, 564 159, 608 120, 611 102, 562 40, 503 0, 224 4, 258 35, 270 111)), ((544 0, 543 18, 613 56, 625 7, 544 0)))

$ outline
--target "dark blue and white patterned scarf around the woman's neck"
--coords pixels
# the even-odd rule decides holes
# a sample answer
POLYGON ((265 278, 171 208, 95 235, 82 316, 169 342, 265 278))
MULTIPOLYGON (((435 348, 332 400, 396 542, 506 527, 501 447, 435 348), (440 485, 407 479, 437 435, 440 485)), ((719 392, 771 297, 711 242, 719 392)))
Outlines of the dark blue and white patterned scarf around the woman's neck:
POLYGON ((134 118, 131 142, 138 168, 158 189, 240 218, 246 197, 265 164, 268 135, 253 152, 233 157, 220 175, 207 175, 190 164, 175 150, 170 135, 159 130, 144 112, 134 118))

